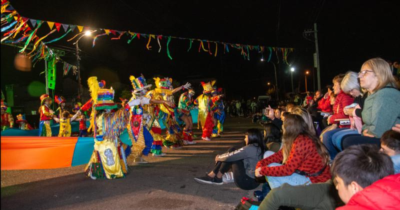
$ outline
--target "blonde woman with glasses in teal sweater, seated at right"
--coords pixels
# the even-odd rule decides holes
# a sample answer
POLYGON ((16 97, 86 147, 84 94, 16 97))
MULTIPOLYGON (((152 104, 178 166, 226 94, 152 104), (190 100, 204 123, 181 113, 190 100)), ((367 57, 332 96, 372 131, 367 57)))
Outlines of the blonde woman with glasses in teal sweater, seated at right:
POLYGON ((362 133, 343 136, 343 149, 362 143, 379 145, 383 132, 400 123, 400 91, 389 64, 381 58, 369 59, 362 64, 358 78, 361 88, 368 91, 361 111, 362 133))

